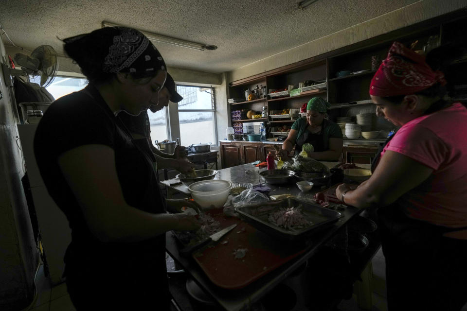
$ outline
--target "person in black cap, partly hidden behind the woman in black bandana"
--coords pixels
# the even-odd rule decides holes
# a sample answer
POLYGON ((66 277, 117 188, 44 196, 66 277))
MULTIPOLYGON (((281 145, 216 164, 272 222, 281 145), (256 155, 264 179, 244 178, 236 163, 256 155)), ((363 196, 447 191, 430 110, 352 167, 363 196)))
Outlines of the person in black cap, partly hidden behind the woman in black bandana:
MULTIPOLYGON (((158 104, 149 106, 149 110, 155 113, 168 106, 169 100, 172 103, 178 103, 182 99, 183 97, 177 93, 174 79, 167 73, 165 84, 159 93, 158 104)), ((140 143, 142 148, 147 150, 151 157, 155 157, 157 169, 176 169, 181 173, 189 173, 193 170, 195 165, 184 159, 186 156, 184 147, 177 146, 173 155, 163 153, 154 147, 151 141, 151 125, 147 111, 143 111, 138 116, 132 116, 122 111, 117 117, 125 124, 133 138, 135 138, 135 141, 140 143)))

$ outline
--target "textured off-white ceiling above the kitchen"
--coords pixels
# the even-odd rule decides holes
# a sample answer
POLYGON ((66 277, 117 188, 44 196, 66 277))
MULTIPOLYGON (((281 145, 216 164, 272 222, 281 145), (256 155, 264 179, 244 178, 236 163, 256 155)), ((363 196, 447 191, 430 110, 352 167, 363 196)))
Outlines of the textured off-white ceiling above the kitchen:
MULTIPOLYGON (((0 25, 19 47, 63 53, 57 38, 87 33, 102 21, 203 44, 195 51, 159 43, 169 67, 231 71, 338 32, 418 0, 1 0, 0 25)), ((10 46, 5 35, 5 45, 10 46)))

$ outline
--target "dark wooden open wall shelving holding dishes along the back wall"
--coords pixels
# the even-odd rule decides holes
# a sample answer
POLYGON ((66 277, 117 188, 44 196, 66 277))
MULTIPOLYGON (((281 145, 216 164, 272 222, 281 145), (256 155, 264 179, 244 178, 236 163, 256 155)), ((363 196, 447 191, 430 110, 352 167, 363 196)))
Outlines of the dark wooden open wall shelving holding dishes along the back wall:
MULTIPOLYGON (((268 138, 272 137, 270 134, 271 127, 289 127, 294 121, 290 119, 271 119, 269 116, 274 111, 281 111, 285 108, 299 109, 315 96, 322 97, 331 104, 328 113, 330 121, 337 121, 337 117, 344 116, 352 117, 355 120, 357 114, 375 112, 375 105, 370 102, 368 94, 371 79, 376 72, 376 67, 373 66, 372 68, 372 56, 376 56, 379 62, 383 60, 394 41, 399 41, 406 46, 418 41, 414 47, 415 50, 423 50, 429 38, 433 37, 438 37, 441 43, 460 41, 464 37, 465 29, 467 29, 465 12, 456 11, 297 63, 233 81, 229 84, 230 98, 245 98, 245 90, 247 88, 253 89, 256 85, 266 86, 269 93, 270 89, 285 89, 288 85, 297 88, 300 82, 306 80, 323 80, 326 82, 326 88, 318 89, 314 93, 291 97, 270 98, 268 95, 266 98, 228 104, 228 106, 229 109, 242 108, 256 112, 260 112, 263 106, 266 107, 268 111, 267 120, 240 121, 264 121, 268 138), (343 70, 348 70, 353 74, 338 77, 337 72, 343 70)), ((432 39, 430 40, 432 41, 432 39)), ((465 42, 462 44, 466 45, 465 42)), ((379 62, 376 62, 375 65, 379 65, 379 62)), ((467 102, 467 76, 463 74, 465 70, 467 70, 467 55, 453 62, 446 72, 448 94, 451 98, 463 103, 467 102)), ((232 122, 232 120, 229 120, 229 125, 232 122)), ((394 128, 394 125, 379 117, 374 120, 372 127, 372 130, 381 131, 380 138, 382 138, 394 128)), ((261 154, 261 156, 263 155, 264 153, 261 154)), ((357 160, 356 157, 355 159, 357 160)))

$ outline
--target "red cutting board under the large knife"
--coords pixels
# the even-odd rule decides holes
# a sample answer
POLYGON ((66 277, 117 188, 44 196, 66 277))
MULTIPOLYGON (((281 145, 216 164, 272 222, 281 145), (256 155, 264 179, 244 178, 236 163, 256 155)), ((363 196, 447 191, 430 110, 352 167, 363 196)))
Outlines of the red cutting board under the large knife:
POLYGON ((238 224, 216 244, 193 253, 193 258, 209 279, 225 289, 239 289, 265 276, 305 251, 305 246, 270 237, 236 217, 215 217, 221 228, 238 224), (228 241, 226 244, 221 242, 228 241), (234 250, 247 248, 242 259, 235 259, 234 250))

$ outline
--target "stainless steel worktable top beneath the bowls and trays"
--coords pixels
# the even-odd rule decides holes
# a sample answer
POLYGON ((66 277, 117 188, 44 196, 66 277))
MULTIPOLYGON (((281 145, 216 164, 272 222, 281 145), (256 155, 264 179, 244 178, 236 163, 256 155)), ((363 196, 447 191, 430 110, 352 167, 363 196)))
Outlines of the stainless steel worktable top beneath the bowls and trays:
MULTIPOLYGON (((322 163, 330 168, 337 164, 337 162, 322 163)), ((360 166, 369 168, 369 165, 360 166)), ((251 182, 256 185, 259 183, 258 172, 263 170, 265 169, 258 169, 249 163, 219 170, 216 175, 216 179, 224 179, 232 182, 251 182), (250 171, 250 173, 245 173, 247 171, 250 171)), ((186 186, 168 186, 177 181, 178 179, 165 180, 162 181, 162 184, 167 186, 168 189, 189 195, 189 191, 186 186)), ((270 195, 292 194, 304 201, 311 200, 313 195, 321 190, 320 188, 314 188, 309 192, 302 192, 295 185, 295 181, 284 185, 267 185, 271 188, 269 193, 270 195)), ((214 285, 192 258, 181 257, 179 255, 177 242, 170 232, 167 232, 166 234, 166 250, 170 256, 172 256, 172 258, 182 266, 185 272, 192 276, 196 283, 216 300, 220 308, 228 311, 248 310, 252 304, 259 301, 272 288, 277 286, 295 270, 301 267, 306 260, 310 259, 318 251, 320 245, 323 245, 323 243, 328 241, 342 225, 348 222, 355 215, 359 214, 360 211, 360 209, 355 207, 347 207, 345 210, 342 210, 341 213, 343 217, 340 218, 337 223, 331 225, 328 229, 323 230, 322 232, 312 235, 309 240, 306 241, 304 245, 305 252, 303 254, 239 290, 226 290, 214 285)))

